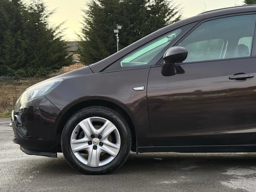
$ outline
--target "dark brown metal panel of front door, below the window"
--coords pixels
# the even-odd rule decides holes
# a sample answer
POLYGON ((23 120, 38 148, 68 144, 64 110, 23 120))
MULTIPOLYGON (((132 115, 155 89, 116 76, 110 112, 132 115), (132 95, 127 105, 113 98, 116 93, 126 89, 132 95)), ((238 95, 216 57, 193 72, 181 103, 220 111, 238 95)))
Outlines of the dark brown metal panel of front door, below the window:
POLYGON ((147 95, 154 146, 256 144, 256 78, 229 79, 255 73, 255 61, 181 64, 185 73, 169 77, 161 67, 151 68, 147 95))

